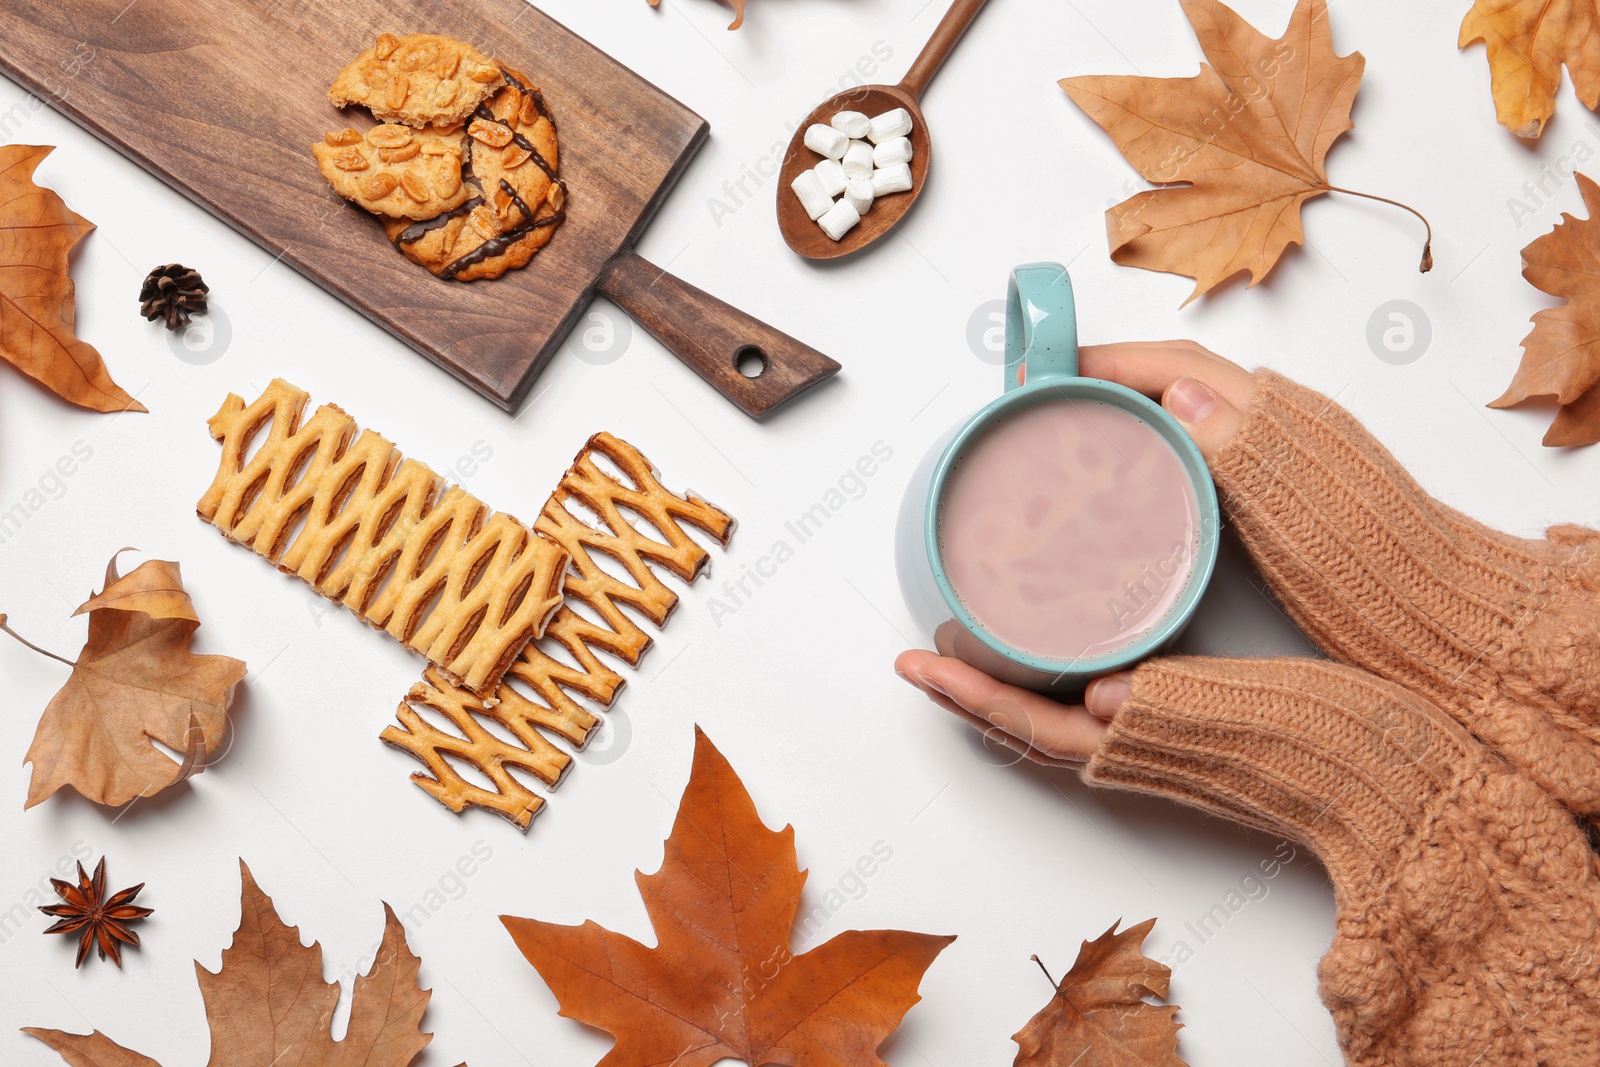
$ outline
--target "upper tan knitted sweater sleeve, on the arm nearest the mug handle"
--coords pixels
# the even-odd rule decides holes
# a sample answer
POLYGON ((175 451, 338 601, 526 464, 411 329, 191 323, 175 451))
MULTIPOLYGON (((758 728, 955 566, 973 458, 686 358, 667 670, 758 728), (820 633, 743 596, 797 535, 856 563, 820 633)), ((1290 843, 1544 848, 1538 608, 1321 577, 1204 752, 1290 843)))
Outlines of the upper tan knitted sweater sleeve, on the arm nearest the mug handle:
POLYGON ((1211 462, 1285 609, 1600 814, 1600 534, 1514 537, 1440 504, 1349 411, 1272 371, 1211 462))

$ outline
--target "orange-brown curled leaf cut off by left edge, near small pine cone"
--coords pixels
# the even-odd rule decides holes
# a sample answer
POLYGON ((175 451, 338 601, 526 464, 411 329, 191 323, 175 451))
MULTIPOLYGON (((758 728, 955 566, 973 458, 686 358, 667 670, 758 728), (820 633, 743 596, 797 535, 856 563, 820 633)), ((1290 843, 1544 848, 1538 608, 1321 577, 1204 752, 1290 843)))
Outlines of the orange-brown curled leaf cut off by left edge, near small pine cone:
POLYGON ((34 171, 54 149, 0 147, 0 357, 62 400, 94 411, 144 411, 110 379, 77 322, 67 253, 94 229, 34 171))

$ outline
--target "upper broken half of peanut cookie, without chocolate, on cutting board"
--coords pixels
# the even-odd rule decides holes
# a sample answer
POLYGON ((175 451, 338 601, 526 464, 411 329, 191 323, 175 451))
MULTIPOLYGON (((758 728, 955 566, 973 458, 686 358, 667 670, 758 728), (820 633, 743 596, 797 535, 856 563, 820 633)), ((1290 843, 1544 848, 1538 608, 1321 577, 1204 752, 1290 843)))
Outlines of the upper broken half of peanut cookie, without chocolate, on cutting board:
POLYGON ((454 37, 382 34, 339 72, 334 107, 360 104, 379 122, 453 126, 504 85, 494 61, 454 37))

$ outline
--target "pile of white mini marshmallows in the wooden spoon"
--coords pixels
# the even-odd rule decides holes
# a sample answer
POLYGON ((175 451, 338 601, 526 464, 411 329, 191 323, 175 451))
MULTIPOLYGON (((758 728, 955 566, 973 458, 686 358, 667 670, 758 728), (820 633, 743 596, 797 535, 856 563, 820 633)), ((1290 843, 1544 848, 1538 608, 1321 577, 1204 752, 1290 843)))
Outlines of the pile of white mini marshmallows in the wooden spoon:
POLYGON ((811 221, 837 242, 872 210, 874 200, 910 190, 909 134, 910 112, 904 107, 875 118, 842 110, 826 126, 811 123, 805 147, 822 160, 800 171, 789 187, 811 221))

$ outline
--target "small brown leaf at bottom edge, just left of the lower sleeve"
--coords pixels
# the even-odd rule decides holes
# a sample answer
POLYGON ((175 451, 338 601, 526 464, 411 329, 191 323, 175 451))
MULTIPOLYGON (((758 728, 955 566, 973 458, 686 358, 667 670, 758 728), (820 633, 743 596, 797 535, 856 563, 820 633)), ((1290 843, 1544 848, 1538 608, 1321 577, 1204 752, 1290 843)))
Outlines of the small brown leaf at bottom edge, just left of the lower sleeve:
POLYGON ((1155 920, 1118 934, 1120 923, 1083 942, 1056 995, 1011 1038, 1013 1067, 1184 1067, 1178 1008, 1144 1001, 1165 1000, 1173 977, 1171 968, 1141 952, 1155 920))

